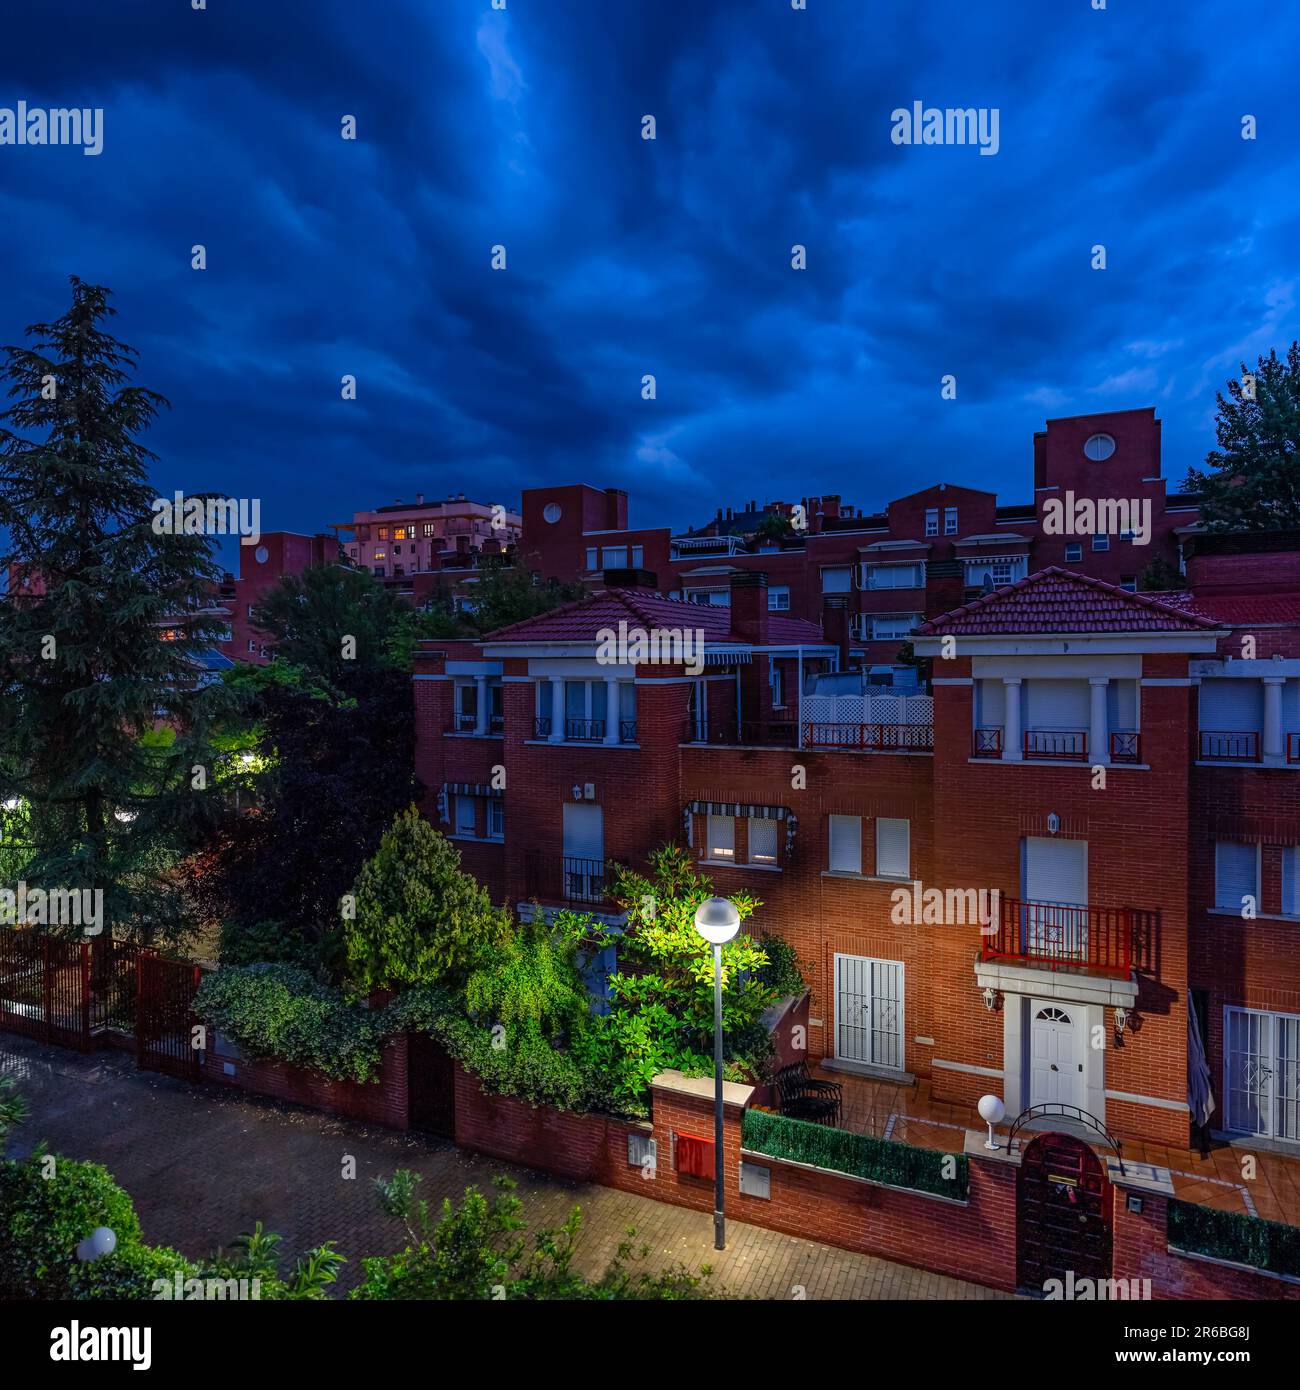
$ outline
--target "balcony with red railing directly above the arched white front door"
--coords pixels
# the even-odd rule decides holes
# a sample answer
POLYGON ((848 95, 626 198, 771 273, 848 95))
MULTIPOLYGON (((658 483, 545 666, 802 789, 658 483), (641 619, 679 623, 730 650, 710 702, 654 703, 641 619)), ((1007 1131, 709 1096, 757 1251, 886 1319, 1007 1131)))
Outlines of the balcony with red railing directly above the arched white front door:
POLYGON ((1002 898, 998 920, 980 929, 980 959, 1128 976, 1148 949, 1154 916, 1136 908, 1002 898))

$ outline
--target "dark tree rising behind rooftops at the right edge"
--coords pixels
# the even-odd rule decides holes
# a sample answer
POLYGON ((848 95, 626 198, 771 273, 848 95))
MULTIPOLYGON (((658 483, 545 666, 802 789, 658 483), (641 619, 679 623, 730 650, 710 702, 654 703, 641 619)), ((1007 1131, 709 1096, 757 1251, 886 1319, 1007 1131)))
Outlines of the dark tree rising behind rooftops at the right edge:
POLYGON ((1300 342, 1272 349, 1218 396, 1218 449, 1187 473, 1207 531, 1300 528, 1300 342), (1253 389, 1243 384, 1254 378, 1253 389))

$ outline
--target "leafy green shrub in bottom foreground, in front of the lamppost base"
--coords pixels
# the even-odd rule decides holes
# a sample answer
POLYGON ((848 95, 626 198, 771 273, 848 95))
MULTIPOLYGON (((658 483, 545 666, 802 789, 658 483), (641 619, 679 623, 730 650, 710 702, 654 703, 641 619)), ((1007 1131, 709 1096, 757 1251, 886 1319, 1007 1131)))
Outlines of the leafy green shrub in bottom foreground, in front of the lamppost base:
POLYGON ((491 1201, 467 1187, 459 1207, 444 1198, 438 1218, 419 1195, 420 1175, 398 1169, 375 1184, 384 1211, 406 1227, 407 1245, 396 1255, 364 1259, 364 1279, 352 1291, 359 1300, 694 1300, 712 1297, 710 1270, 683 1265, 659 1273, 633 1270, 648 1245, 620 1243, 615 1258, 595 1277, 573 1268, 583 1212, 574 1207, 564 1223, 537 1232, 531 1245, 523 1202, 509 1177, 494 1179, 491 1201))

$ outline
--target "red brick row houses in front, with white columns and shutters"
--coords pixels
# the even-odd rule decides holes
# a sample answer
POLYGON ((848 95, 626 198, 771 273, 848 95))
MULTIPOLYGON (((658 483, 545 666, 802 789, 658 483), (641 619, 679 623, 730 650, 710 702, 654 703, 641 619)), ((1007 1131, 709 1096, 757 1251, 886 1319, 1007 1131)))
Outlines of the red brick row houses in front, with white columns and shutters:
POLYGON ((424 644, 427 813, 524 912, 690 845, 797 947, 827 1066, 1185 1147, 1204 1052, 1211 1127, 1300 1143, 1297 546, 1196 537, 1176 595, 1037 571, 918 628, 932 694, 809 684, 844 646, 762 571, 608 573, 424 644))

